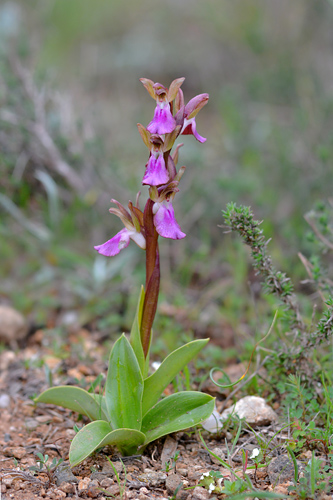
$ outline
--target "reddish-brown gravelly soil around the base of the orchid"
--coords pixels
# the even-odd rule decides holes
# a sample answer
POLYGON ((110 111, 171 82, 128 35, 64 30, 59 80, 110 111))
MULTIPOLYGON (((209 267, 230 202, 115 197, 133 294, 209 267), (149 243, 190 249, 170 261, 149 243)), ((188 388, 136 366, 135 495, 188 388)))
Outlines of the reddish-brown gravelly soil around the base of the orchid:
MULTIPOLYGON (((4 350, 0 354, 0 401, 3 406, 0 410, 1 500, 167 499, 173 497, 180 483, 183 486, 177 498, 204 500, 214 498, 214 494, 210 495, 198 486, 204 473, 215 470, 224 478, 234 479, 204 448, 195 430, 162 438, 152 443, 143 456, 122 458, 123 464, 119 453, 106 447, 70 469, 68 452, 75 435, 73 427, 75 423, 81 426, 82 421, 78 422, 77 414, 60 407, 36 406, 32 398, 48 387, 51 374, 54 385, 77 385, 79 382, 81 386, 89 387, 99 373, 106 372, 105 348, 85 331, 69 336, 59 357, 54 355, 54 346, 50 344, 45 340, 44 332, 37 331, 24 348, 15 352, 4 350), (172 457, 176 452, 179 456, 175 464, 172 457), (54 458, 64 462, 49 474, 45 468, 34 472, 30 467, 37 465, 37 453, 47 454, 49 463, 54 458), (109 460, 116 468, 119 480, 109 460)), ((208 392, 209 388, 208 384, 208 392)), ((225 394, 218 394, 217 406, 222 405, 225 397, 225 394)), ((88 420, 83 419, 83 423, 88 423, 88 420)), ((269 427, 260 430, 269 436, 275 431, 269 427)), ((229 430, 218 436, 205 431, 202 435, 207 446, 221 457, 227 455, 227 444, 231 449, 234 436, 229 430)), ((247 450, 250 455, 256 446, 253 433, 245 433, 239 438, 230 465, 235 471, 240 471, 240 476, 242 450, 247 450)), ((256 474, 253 470, 247 473, 251 474, 258 489, 273 490, 267 469, 259 469, 256 474)), ((287 485, 275 485, 274 491, 285 493, 287 485)))

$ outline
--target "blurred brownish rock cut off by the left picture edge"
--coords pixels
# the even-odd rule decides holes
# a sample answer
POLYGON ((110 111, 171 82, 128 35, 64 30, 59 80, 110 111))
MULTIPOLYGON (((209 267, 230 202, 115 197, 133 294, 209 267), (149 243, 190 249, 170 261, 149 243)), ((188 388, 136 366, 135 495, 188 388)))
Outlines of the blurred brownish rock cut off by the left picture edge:
POLYGON ((28 324, 21 313, 10 306, 0 305, 0 341, 15 346, 28 334, 28 324))

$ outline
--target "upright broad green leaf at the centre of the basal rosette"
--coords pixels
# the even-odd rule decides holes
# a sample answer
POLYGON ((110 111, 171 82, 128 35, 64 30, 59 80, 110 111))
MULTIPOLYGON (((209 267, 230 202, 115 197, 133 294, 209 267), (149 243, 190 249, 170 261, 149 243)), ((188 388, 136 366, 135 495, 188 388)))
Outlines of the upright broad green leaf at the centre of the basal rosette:
POLYGON ((133 348, 123 334, 114 344, 106 377, 105 400, 114 429, 141 428, 143 378, 133 348))

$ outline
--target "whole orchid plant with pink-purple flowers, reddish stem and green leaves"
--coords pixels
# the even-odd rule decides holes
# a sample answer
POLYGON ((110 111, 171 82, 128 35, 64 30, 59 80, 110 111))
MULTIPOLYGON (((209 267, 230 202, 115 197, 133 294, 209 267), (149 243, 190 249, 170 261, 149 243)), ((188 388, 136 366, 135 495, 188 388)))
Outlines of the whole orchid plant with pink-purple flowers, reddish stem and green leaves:
POLYGON ((97 449, 116 446, 123 455, 142 453, 145 446, 166 434, 202 423, 214 409, 214 398, 196 391, 183 391, 163 397, 175 376, 193 359, 209 339, 189 342, 173 351, 159 368, 149 375, 149 350, 160 287, 158 238, 185 238, 172 206, 179 192, 185 167, 177 171, 179 148, 173 153, 176 139, 194 135, 196 115, 207 103, 208 94, 200 94, 186 105, 181 90, 184 78, 174 80, 169 88, 152 80, 141 82, 156 101, 154 117, 139 133, 149 150, 142 184, 149 186, 144 210, 136 203, 128 209, 116 200, 110 212, 124 225, 113 238, 95 249, 114 257, 130 240, 146 251, 146 283, 141 287, 138 306, 129 339, 123 334, 114 344, 109 360, 104 394, 93 394, 79 387, 58 386, 44 391, 36 402, 51 403, 86 415, 91 422, 74 437, 69 452, 72 466, 79 464, 97 449))

